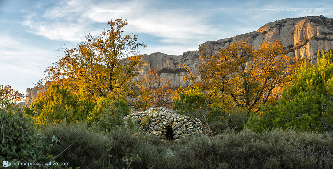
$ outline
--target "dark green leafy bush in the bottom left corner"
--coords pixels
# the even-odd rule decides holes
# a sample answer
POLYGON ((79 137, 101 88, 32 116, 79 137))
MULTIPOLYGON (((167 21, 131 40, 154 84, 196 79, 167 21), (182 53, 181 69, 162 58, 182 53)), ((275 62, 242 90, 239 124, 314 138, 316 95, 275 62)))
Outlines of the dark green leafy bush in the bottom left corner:
MULTIPOLYGON (((26 108, 26 114, 32 111, 26 108)), ((0 109, 1 148, 0 161, 9 161, 12 168, 44 168, 44 166, 13 166, 13 163, 50 162, 53 156, 47 153, 46 137, 35 131, 30 117, 16 107, 0 109)), ((50 142, 51 143, 51 142, 50 142)), ((55 163, 55 161, 53 161, 55 163)), ((51 168, 60 166, 51 166, 51 168)))

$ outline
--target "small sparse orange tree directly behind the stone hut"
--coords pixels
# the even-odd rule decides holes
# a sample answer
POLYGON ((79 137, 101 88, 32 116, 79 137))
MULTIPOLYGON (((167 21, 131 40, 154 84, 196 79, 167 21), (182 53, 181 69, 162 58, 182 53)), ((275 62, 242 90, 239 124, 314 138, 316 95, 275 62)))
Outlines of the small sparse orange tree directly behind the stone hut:
POLYGON ((172 98, 170 79, 164 79, 158 73, 158 68, 151 67, 148 73, 137 84, 137 96, 132 95, 132 104, 138 109, 149 107, 170 107, 172 98), (161 86, 158 86, 161 84, 161 86))

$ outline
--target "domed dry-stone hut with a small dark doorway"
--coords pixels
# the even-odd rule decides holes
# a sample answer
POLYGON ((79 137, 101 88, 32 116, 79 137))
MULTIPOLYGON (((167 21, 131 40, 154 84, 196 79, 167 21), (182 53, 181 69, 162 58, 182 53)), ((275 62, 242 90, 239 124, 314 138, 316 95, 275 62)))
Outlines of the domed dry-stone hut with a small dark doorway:
POLYGON ((140 124, 143 118, 148 119, 148 124, 144 130, 155 134, 161 139, 181 139, 192 134, 202 133, 202 124, 199 119, 194 117, 185 117, 164 107, 151 108, 145 112, 132 113, 130 116, 137 124, 140 124))

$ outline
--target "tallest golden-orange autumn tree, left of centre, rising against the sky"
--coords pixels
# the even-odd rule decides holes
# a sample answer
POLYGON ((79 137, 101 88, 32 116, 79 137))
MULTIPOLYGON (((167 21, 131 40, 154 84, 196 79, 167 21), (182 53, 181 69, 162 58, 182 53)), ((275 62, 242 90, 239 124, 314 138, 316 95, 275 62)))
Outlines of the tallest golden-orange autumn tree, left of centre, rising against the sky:
POLYGON ((138 49, 146 45, 137 42, 137 35, 123 35, 127 24, 126 19, 111 20, 110 29, 101 34, 89 33, 74 48, 60 48, 65 56, 46 68, 45 79, 74 92, 83 89, 86 97, 93 99, 130 95, 137 66, 143 64, 138 49))

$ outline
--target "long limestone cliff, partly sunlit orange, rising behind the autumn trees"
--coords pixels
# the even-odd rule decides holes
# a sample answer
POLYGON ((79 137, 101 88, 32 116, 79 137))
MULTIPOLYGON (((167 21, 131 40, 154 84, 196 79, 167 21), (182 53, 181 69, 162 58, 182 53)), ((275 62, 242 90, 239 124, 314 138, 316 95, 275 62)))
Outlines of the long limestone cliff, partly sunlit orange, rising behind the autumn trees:
MULTIPOLYGON (((320 16, 305 16, 299 18, 288 18, 266 23, 258 30, 236 35, 231 38, 220 39, 217 41, 208 41, 215 52, 225 48, 232 43, 238 42, 240 39, 248 39, 249 45, 259 48, 262 41, 273 41, 275 39, 282 41, 288 55, 291 57, 301 58, 306 57, 311 59, 312 63, 316 63, 316 52, 318 50, 329 51, 333 48, 333 18, 320 16)), ((147 64, 158 67, 159 73, 163 78, 171 79, 174 88, 188 86, 188 83, 183 82, 183 77, 187 75, 185 69, 179 68, 179 65, 186 63, 188 68, 196 71, 195 66, 200 63, 197 51, 188 51, 182 55, 168 55, 165 53, 145 54, 143 60, 147 64)), ((148 72, 149 67, 138 67, 140 76, 134 80, 141 80, 142 74, 148 72)), ((156 84, 158 87, 160 84, 156 84)), ((37 88, 27 89, 26 105, 31 100, 37 98, 37 88)))

